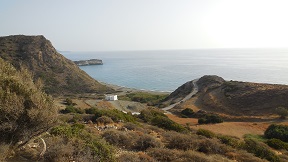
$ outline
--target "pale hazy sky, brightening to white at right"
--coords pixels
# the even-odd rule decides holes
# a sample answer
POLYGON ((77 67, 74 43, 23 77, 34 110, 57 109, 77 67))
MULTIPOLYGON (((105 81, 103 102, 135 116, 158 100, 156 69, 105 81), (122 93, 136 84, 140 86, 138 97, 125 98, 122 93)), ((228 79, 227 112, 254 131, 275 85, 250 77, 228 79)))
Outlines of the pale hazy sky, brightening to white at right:
POLYGON ((288 47, 288 0, 0 0, 0 36, 58 50, 288 47))

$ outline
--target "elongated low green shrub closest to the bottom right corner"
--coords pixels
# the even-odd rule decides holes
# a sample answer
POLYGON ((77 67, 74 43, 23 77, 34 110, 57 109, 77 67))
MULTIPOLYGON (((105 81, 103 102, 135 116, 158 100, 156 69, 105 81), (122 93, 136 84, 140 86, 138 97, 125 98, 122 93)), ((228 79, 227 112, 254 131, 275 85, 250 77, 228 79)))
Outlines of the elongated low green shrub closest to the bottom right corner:
POLYGON ((245 139, 243 148, 247 152, 253 153, 257 157, 273 162, 280 161, 280 158, 273 151, 271 151, 268 146, 253 139, 245 139))

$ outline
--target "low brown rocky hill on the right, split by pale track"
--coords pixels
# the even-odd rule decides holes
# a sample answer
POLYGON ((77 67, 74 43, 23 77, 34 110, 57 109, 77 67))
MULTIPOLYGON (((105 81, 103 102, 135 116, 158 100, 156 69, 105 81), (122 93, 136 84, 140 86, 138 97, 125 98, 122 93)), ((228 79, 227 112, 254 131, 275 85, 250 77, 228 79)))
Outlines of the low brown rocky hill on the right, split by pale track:
MULTIPOLYGON (((183 98, 187 94, 185 85, 168 98, 183 98)), ((287 85, 225 81, 218 76, 203 76, 197 85, 196 104, 206 111, 261 116, 275 114, 278 107, 288 107, 287 85)))

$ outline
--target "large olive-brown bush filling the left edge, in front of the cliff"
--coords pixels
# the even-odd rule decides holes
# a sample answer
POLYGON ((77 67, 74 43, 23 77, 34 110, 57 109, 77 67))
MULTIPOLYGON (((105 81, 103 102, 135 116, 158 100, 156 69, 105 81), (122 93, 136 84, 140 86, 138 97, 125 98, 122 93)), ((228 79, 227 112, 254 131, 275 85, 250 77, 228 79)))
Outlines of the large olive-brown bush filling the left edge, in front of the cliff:
POLYGON ((27 70, 0 59, 0 144, 25 144, 54 125, 57 108, 41 89, 27 70))

